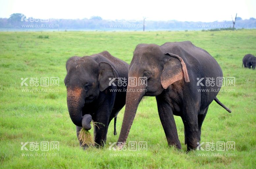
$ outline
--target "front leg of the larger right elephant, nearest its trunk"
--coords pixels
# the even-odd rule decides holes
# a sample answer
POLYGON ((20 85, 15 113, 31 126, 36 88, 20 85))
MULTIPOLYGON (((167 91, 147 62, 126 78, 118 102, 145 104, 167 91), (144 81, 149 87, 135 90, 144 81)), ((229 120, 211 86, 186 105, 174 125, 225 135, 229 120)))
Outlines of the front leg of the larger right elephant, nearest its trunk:
POLYGON ((168 103, 160 96, 156 96, 157 109, 160 121, 169 146, 176 146, 181 149, 181 143, 178 137, 173 111, 168 103))

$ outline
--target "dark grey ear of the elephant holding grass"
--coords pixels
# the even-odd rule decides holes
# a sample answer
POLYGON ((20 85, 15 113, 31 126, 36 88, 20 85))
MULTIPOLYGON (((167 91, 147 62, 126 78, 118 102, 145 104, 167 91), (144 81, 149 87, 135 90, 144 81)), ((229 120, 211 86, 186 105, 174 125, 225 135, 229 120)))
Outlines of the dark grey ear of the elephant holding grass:
POLYGON ((107 62, 100 62, 99 63, 99 86, 100 91, 105 90, 108 86, 111 86, 112 79, 117 80, 119 78, 117 71, 107 62), (109 84, 110 83, 110 84, 109 84))

